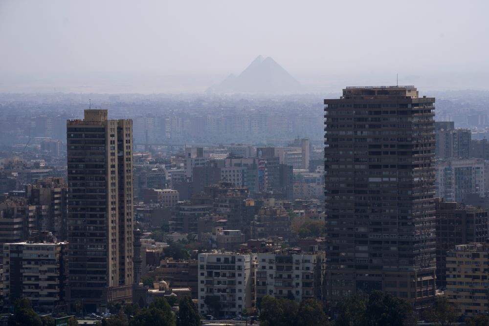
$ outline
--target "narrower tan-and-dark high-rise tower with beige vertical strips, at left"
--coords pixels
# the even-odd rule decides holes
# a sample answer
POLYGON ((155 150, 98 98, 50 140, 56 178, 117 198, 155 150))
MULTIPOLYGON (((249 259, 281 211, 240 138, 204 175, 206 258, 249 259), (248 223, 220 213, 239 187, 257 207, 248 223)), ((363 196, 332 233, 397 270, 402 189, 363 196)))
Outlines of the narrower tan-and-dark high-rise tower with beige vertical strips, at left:
POLYGON ((108 120, 107 110, 67 121, 70 311, 132 296, 132 137, 132 120, 108 120))

